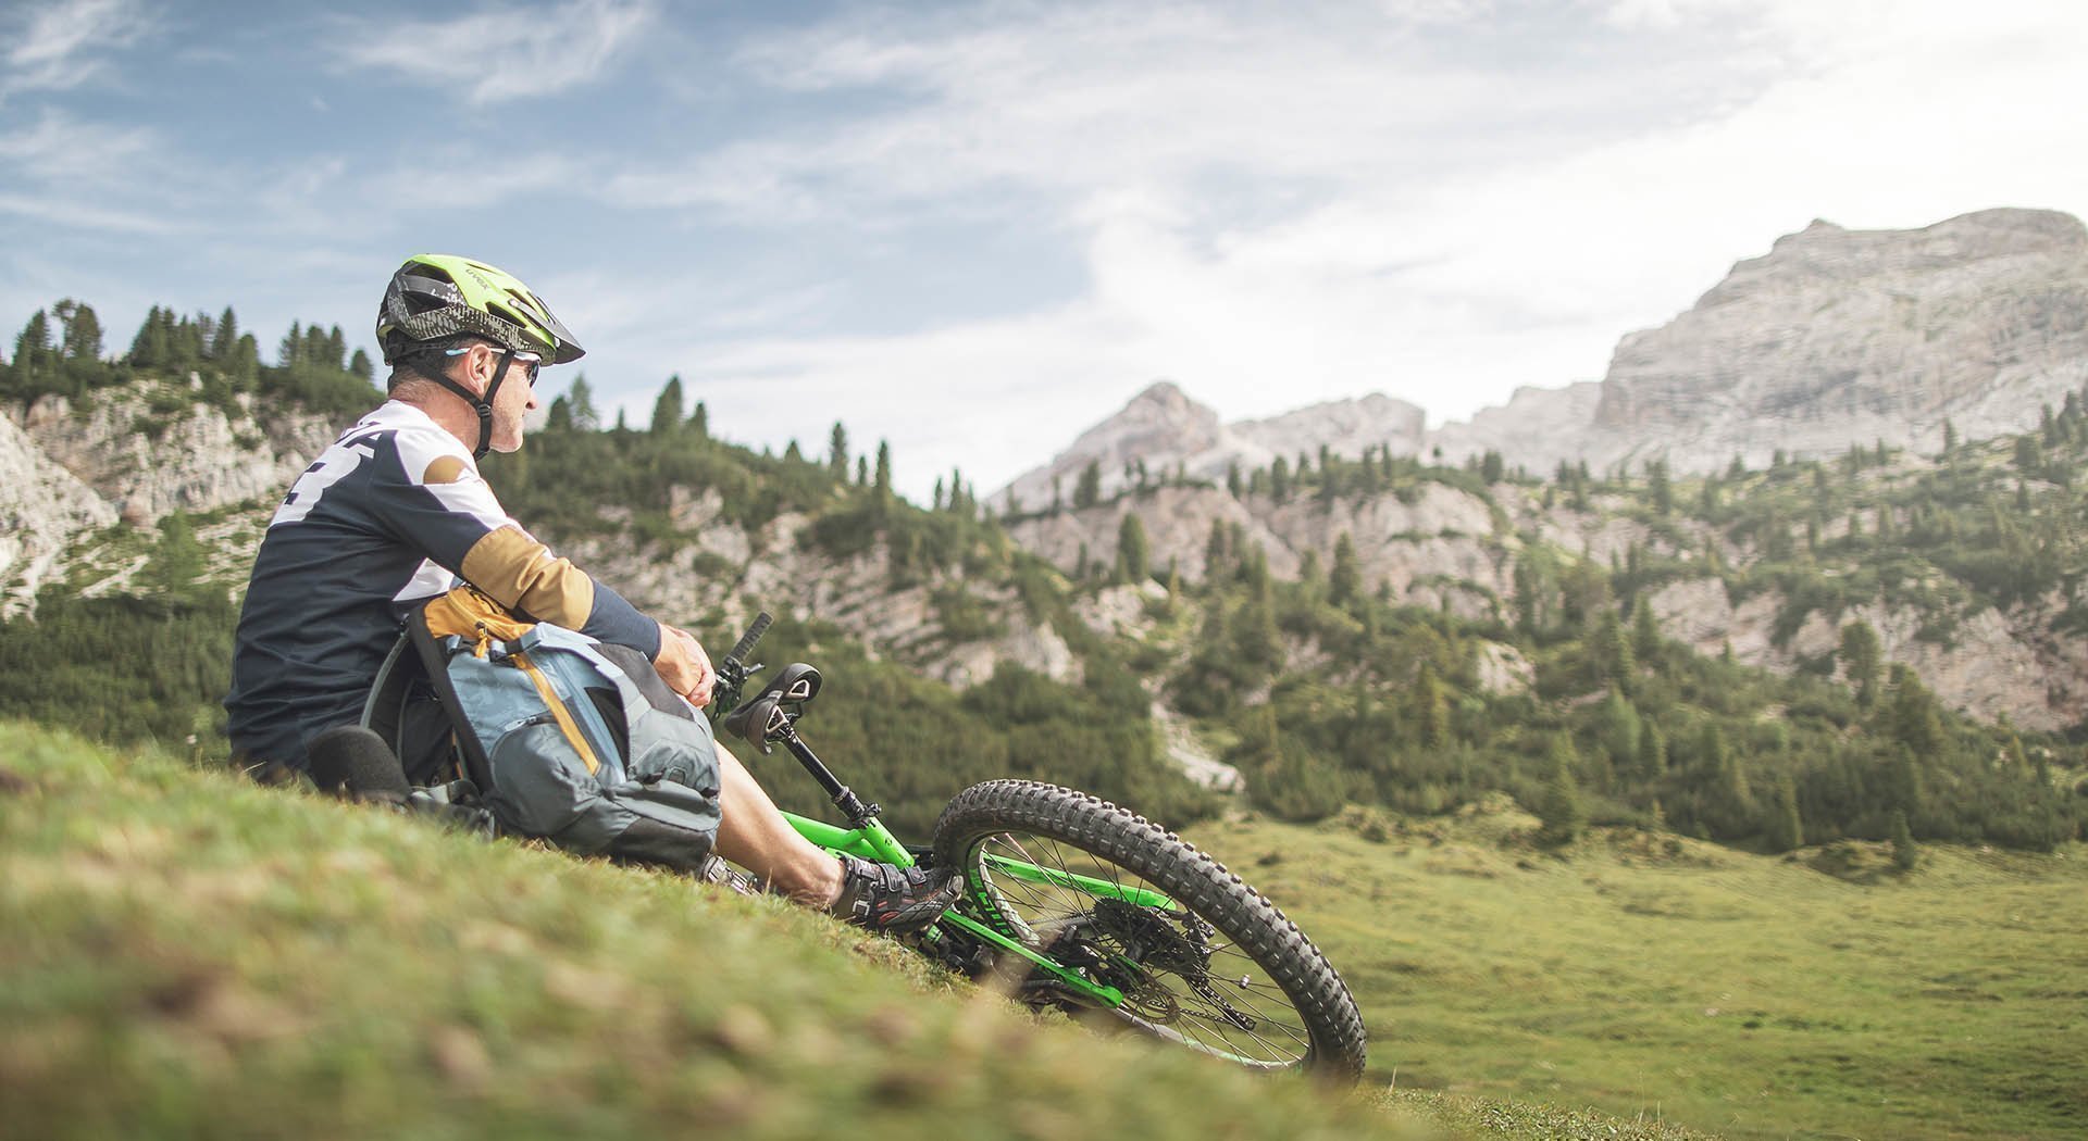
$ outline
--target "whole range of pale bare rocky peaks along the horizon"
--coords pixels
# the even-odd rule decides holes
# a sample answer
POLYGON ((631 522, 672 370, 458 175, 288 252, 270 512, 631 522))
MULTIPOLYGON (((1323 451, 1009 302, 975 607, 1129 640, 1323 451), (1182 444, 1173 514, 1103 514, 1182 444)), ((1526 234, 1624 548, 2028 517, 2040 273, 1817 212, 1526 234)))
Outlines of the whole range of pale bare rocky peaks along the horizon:
POLYGON ((1157 382, 990 501, 1050 503, 1050 482, 1063 490, 1088 463, 1113 492, 1140 459, 1153 474, 1186 465, 1190 478, 1224 480, 1230 465, 1265 467, 1322 444, 1349 459, 1389 448, 1460 463, 1491 451, 1531 471, 1664 459, 1672 471, 1704 474, 1733 457, 1760 467, 1779 451, 1933 448, 1946 419, 1961 438, 2019 432, 2084 384, 2080 219, 2027 209, 1921 229, 1814 219, 1737 261, 1668 323, 1618 338, 1601 382, 1522 386, 1505 405, 1432 430, 1424 409, 1382 392, 1217 423, 1178 382, 1157 382), (1153 405, 1199 432, 1167 438, 1153 405))

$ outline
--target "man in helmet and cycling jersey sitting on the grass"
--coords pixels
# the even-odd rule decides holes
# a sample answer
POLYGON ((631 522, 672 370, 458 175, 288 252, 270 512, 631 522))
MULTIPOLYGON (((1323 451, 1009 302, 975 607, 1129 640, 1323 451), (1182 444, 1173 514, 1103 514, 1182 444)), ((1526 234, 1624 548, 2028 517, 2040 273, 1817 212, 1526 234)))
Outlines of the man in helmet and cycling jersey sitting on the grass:
MULTIPOLYGON (((242 768, 307 772, 317 734, 357 724, 401 620, 457 582, 631 647, 668 688, 708 705, 716 674, 704 647, 555 557, 478 474, 489 451, 522 446, 539 369, 583 355, 551 309, 491 265, 418 254, 384 290, 376 334, 388 400, 292 484, 255 557, 226 697, 242 768)), ((722 809, 716 853, 770 891, 879 930, 925 926, 954 901, 954 880, 814 847, 708 724, 704 738, 722 809)))

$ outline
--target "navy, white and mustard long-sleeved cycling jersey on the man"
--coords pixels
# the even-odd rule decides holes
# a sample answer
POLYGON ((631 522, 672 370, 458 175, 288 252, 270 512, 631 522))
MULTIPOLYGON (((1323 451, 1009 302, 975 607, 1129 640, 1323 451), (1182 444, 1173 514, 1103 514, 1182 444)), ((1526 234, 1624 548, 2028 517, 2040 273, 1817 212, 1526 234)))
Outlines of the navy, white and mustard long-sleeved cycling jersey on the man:
POLYGON ((660 624, 507 517, 455 436, 390 400, 299 476, 246 586, 226 697, 234 751, 305 768, 305 743, 353 724, 399 622, 470 582, 501 605, 641 651, 660 624))

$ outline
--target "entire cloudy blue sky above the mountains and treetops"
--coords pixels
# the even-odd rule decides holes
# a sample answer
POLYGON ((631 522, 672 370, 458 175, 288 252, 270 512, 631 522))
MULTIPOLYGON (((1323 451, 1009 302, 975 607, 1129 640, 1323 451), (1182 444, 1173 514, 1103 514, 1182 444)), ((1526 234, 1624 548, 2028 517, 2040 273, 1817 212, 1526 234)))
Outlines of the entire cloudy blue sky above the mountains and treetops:
POLYGON ((1457 419, 1814 217, 2080 215, 2082 58, 2042 0, 15 2, 0 323, 370 346, 464 252, 637 423, 681 373, 729 438, 990 492, 1153 380, 1457 419))

